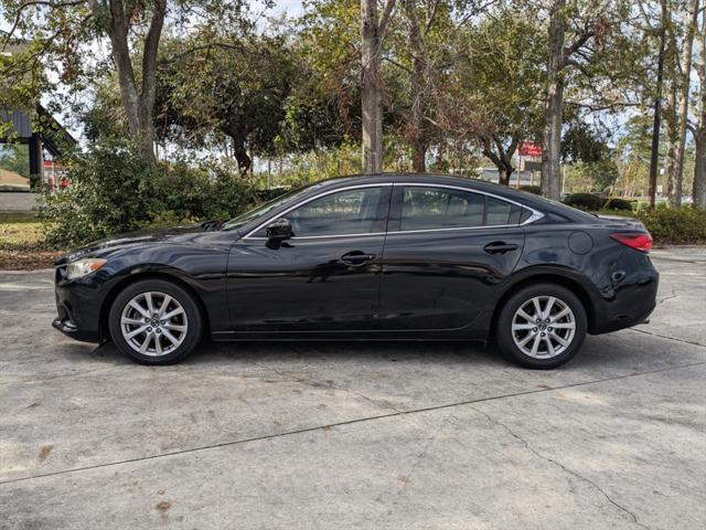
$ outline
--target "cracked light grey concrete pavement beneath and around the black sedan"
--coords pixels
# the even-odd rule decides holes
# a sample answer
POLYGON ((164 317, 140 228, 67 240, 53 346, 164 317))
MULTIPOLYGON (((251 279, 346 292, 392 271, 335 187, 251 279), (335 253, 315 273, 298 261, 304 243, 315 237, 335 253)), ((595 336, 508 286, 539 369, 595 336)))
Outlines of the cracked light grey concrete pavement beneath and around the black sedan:
POLYGON ((0 273, 0 528, 704 529, 706 248, 564 368, 459 342, 205 344, 148 368, 0 273))

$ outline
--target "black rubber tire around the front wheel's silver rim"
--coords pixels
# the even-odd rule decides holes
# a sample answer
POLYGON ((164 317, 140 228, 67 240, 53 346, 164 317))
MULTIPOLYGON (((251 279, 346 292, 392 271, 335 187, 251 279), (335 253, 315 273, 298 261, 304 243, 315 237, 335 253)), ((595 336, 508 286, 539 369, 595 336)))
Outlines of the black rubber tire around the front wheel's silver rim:
MULTIPOLYGON (((165 298, 161 298, 162 303, 164 300, 165 298)), ((154 304, 157 304, 157 300, 154 301, 154 304)), ((133 312, 132 315, 133 317, 138 317, 137 312, 133 312)), ((157 320, 159 320, 159 318, 157 320)), ((179 324, 179 320, 176 324, 179 324)), ((138 326, 133 326, 135 327, 132 329, 137 330, 138 326)), ((110 337, 113 338, 115 344, 122 353, 128 356, 135 362, 138 362, 140 364, 173 364, 184 359, 201 342, 201 338, 203 336, 203 317, 201 315, 199 305, 194 300, 193 296, 184 288, 164 279, 143 279, 129 285, 122 292, 120 292, 120 294, 118 294, 113 303, 113 306, 110 306, 110 312, 108 315, 108 327, 110 329, 110 337), (122 312, 126 309, 126 306, 128 306, 129 301, 135 297, 139 297, 147 293, 157 295, 150 295, 150 299, 152 299, 153 297, 159 298, 159 295, 168 295, 173 299, 173 301, 170 303, 172 304, 170 306, 172 308, 176 307, 174 304, 179 304, 181 308, 183 308, 182 315, 184 316, 176 316, 174 318, 181 319, 181 327, 185 327, 184 331, 169 331, 169 329, 167 329, 167 326, 164 326, 167 330, 163 331, 161 329, 161 326, 159 326, 158 324, 154 327, 154 333, 161 333, 161 338, 157 337, 156 335, 152 336, 150 342, 152 344, 152 350, 154 350, 152 354, 140 353, 140 351, 133 349, 133 346, 130 346, 130 343, 128 343, 128 339, 124 337, 121 325, 122 312), (172 337, 176 336, 176 338, 180 340, 179 346, 176 346, 175 348, 173 343, 167 340, 168 332, 172 337), (182 332, 183 337, 181 335, 182 332), (160 343, 160 351, 162 348, 162 343, 165 344, 164 349, 171 348, 171 350, 159 354, 156 351, 157 342, 160 343)), ((148 329, 150 330, 150 332, 152 331, 151 327, 148 329)), ((141 338, 147 338, 147 333, 140 333, 136 337, 135 341, 139 341, 141 338)))

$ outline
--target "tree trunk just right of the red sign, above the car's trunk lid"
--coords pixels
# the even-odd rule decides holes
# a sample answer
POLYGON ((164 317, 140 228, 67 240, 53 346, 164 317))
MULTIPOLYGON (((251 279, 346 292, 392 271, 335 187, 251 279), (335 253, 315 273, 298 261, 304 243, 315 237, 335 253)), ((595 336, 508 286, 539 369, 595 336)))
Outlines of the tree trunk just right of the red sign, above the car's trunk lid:
POLYGON ((561 121, 564 114, 564 39, 566 0, 555 0, 549 12, 547 91, 542 137, 542 194, 559 200, 561 174, 561 121))

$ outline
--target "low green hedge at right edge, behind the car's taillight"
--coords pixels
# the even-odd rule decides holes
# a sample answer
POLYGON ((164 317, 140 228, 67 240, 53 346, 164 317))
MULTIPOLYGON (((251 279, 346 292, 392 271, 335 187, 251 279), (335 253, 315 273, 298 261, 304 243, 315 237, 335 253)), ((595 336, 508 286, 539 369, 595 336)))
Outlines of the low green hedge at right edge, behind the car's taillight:
POLYGON ((634 218, 644 223, 657 244, 706 243, 706 210, 649 208, 638 211, 634 218))

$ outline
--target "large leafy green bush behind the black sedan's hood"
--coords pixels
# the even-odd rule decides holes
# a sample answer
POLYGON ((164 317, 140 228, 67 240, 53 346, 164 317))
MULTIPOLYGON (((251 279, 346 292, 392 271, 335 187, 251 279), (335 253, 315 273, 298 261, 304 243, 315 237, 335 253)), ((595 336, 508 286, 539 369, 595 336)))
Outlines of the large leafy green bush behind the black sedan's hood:
POLYGON ((153 225, 227 219, 255 199, 252 186, 233 172, 153 166, 137 146, 119 140, 93 146, 69 166, 68 178, 67 189, 45 193, 40 205, 46 241, 55 247, 153 225))

